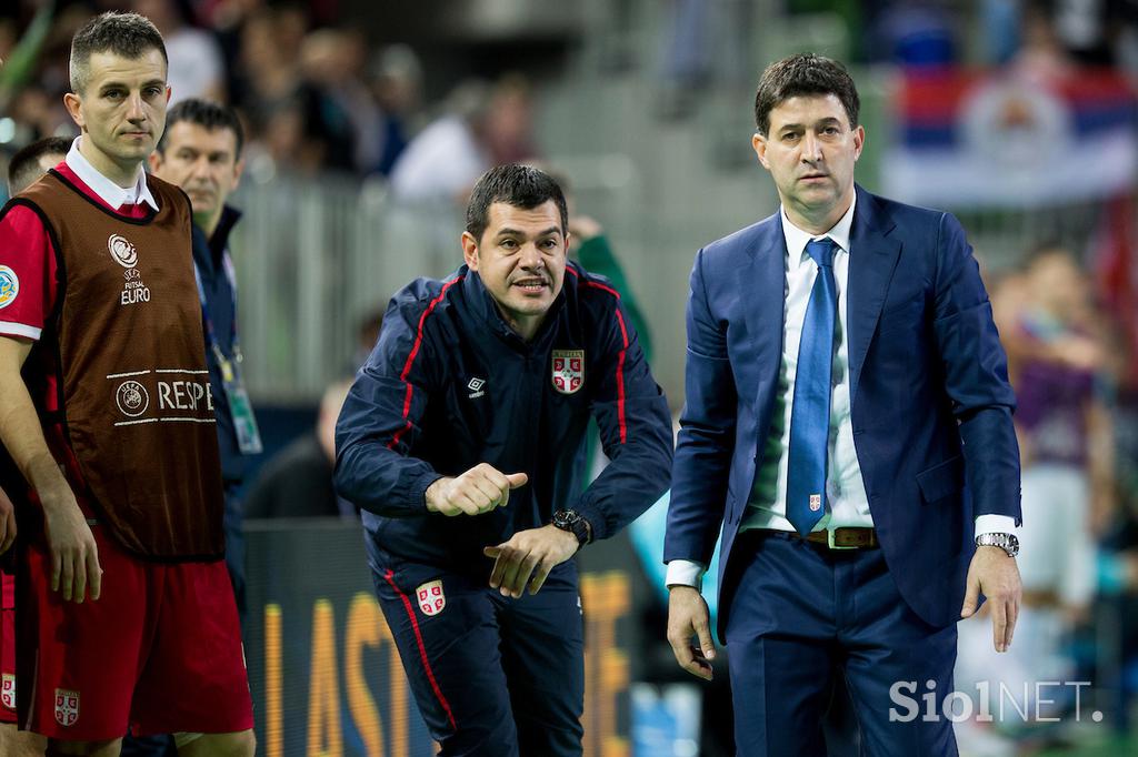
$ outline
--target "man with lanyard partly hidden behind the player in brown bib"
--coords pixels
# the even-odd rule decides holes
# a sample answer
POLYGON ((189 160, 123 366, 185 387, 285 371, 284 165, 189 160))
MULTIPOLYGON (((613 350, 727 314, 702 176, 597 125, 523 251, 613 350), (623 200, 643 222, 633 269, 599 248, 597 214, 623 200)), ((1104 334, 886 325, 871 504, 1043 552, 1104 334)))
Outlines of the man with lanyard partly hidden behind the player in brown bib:
POLYGON ((241 217, 225 205, 241 180, 245 133, 237 114, 208 100, 182 100, 166 118, 166 133, 150 153, 150 172, 182 188, 193 207, 193 273, 201 301, 209 386, 217 416, 225 484, 225 563, 237 609, 245 617, 245 539, 238 499, 247 455, 261 452, 261 435, 241 376, 237 336, 237 277, 229 233, 241 217))

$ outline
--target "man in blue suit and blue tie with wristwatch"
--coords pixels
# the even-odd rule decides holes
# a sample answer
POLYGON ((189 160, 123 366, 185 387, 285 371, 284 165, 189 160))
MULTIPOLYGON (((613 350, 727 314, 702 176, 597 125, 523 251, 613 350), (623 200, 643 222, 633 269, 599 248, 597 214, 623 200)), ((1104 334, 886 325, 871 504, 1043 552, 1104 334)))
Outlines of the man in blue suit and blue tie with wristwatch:
POLYGON ((954 217, 853 183, 865 130, 840 64, 773 64, 754 110, 782 208, 695 257, 668 640, 711 677, 699 582, 721 531, 740 755, 825 754, 842 677, 869 754, 954 755, 956 622, 986 596, 1005 650, 1020 602, 1015 400, 988 296, 954 217))

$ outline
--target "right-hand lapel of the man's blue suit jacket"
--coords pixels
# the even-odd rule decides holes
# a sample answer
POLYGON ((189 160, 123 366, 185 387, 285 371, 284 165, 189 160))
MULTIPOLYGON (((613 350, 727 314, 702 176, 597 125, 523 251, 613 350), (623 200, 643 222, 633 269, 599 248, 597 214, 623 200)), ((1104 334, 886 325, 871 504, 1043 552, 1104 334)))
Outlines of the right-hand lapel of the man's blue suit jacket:
POLYGON ((857 397, 861 367, 877 328, 885 292, 901 252, 899 241, 888 234, 892 221, 877 206, 877 199, 857 188, 857 208, 850 233, 849 294, 846 303, 849 331, 850 401, 857 397))

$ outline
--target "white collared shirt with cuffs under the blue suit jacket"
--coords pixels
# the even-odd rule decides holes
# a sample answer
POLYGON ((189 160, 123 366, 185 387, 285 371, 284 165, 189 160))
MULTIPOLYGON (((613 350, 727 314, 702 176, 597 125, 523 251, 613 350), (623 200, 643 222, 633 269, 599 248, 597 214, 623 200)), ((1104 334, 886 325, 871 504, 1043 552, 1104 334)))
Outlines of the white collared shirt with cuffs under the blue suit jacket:
MULTIPOLYGON (((780 208, 783 235, 786 240, 786 285, 783 310, 783 352, 778 371, 778 392, 775 396, 774 413, 781 414, 782 423, 772 418, 767 439, 762 441, 760 458, 762 465, 754 475, 754 486, 740 523, 740 531, 749 529, 774 529, 793 531, 786 519, 786 472, 790 460, 790 422, 794 398, 794 377, 798 371, 798 350, 802 339, 806 307, 818 275, 818 266, 806 252, 811 240, 828 238, 838 246, 834 250, 834 284, 838 289, 838 351, 833 358, 832 386, 830 397, 830 439, 826 471, 826 511, 815 525, 815 531, 841 527, 871 527, 873 515, 866 496, 861 466, 853 446, 853 422, 850 405, 849 342, 847 334, 847 310, 849 309, 848 283, 852 250, 850 230, 853 226, 853 209, 857 197, 850 202, 838 223, 825 234, 810 234, 786 217, 780 208)), ((976 517, 975 533, 1015 533, 1015 518, 1005 515, 981 515, 976 517)), ((704 566, 692 560, 668 563, 667 584, 699 587, 704 566)))

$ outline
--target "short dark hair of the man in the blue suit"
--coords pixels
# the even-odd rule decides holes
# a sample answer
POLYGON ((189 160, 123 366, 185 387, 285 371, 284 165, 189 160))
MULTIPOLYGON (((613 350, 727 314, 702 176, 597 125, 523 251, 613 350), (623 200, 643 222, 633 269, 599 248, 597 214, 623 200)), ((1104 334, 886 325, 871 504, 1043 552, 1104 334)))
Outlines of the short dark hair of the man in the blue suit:
POLYGON ((770 130, 770 111, 794 97, 833 94, 842 102, 850 127, 858 125, 861 101, 853 78, 832 58, 800 52, 767 66, 754 93, 754 125, 766 136, 770 130))

